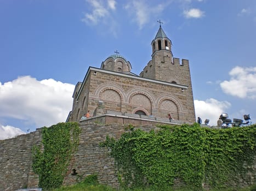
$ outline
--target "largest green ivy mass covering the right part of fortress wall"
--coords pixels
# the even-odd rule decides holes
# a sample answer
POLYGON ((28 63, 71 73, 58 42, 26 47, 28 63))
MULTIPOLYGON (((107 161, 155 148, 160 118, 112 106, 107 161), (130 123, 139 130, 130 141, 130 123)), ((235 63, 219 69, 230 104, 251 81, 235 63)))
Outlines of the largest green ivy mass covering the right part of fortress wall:
POLYGON ((243 175, 244 162, 252 164, 256 154, 256 125, 210 129, 197 123, 189 126, 158 126, 155 133, 136 129, 119 140, 107 137, 122 186, 170 187, 175 178, 188 188, 200 190, 207 182, 212 188, 228 187, 243 175), (146 181, 145 181, 146 180, 146 181))

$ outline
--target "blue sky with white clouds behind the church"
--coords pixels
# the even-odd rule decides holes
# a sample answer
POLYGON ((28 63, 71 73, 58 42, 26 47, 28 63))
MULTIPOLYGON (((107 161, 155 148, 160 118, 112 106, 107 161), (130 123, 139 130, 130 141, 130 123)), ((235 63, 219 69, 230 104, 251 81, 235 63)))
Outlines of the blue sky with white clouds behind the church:
POLYGON ((116 50, 139 74, 159 19, 189 59, 196 116, 255 123, 254 0, 0 0, 0 139, 65 122, 76 83, 116 50))

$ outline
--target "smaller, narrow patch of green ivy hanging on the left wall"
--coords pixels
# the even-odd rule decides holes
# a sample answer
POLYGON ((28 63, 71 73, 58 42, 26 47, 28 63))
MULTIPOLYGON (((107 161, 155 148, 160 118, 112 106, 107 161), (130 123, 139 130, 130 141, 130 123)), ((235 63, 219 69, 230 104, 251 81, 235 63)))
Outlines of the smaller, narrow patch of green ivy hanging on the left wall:
POLYGON ((78 123, 58 123, 42 128, 42 147, 33 147, 32 168, 39 176, 39 187, 61 186, 67 173, 72 153, 79 141, 78 123))

